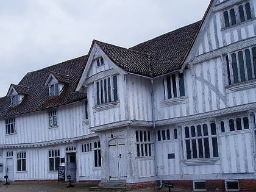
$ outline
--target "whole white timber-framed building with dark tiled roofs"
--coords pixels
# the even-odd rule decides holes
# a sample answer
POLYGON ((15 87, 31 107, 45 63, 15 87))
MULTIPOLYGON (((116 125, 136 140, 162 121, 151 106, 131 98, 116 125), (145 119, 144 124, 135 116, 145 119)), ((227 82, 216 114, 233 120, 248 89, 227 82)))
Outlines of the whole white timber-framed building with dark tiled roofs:
POLYGON ((256 0, 27 73, 0 98, 0 178, 255 191, 256 0))

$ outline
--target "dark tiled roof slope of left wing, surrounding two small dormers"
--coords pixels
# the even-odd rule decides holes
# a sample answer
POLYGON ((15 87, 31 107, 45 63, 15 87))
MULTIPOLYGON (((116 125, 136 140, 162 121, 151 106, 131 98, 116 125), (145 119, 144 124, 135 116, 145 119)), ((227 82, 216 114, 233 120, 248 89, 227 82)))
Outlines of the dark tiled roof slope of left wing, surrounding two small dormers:
POLYGON ((17 88, 16 91, 20 91, 27 90, 26 88, 29 87, 29 91, 24 96, 21 104, 15 107, 10 107, 10 97, 5 96, 0 98, 1 117, 6 118, 52 107, 59 107, 85 99, 85 93, 78 93, 74 90, 84 70, 86 59, 87 55, 27 73, 18 85, 14 85, 14 88, 15 90, 17 88), (44 83, 51 73, 54 73, 54 76, 58 74, 56 77, 65 81, 68 76, 69 83, 65 85, 59 96, 49 97, 49 89, 44 86, 44 83), (66 75, 63 76, 63 74, 66 75))

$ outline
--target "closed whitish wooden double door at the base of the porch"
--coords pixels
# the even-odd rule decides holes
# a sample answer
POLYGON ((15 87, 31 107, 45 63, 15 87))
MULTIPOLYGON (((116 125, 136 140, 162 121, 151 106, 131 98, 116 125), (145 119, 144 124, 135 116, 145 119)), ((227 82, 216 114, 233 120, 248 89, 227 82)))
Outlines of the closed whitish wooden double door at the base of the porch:
POLYGON ((126 144, 123 138, 111 140, 109 149, 109 180, 126 180, 127 158, 126 144))

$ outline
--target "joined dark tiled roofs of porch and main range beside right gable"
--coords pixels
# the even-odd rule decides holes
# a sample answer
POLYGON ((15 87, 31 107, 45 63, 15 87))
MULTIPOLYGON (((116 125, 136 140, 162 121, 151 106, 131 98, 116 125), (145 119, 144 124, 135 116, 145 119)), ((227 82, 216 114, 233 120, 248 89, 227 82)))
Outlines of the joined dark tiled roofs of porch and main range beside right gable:
POLYGON ((113 63, 129 73, 157 77, 181 69, 201 21, 126 49, 94 40, 113 63))

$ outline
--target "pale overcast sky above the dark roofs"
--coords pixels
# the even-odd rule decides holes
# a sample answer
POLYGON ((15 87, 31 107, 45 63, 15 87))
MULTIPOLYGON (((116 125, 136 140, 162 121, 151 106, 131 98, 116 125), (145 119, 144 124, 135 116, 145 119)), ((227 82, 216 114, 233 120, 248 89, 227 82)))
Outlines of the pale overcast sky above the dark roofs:
POLYGON ((199 21, 210 0, 0 0, 0 97, 29 71, 199 21))

